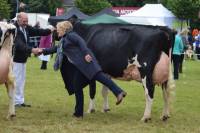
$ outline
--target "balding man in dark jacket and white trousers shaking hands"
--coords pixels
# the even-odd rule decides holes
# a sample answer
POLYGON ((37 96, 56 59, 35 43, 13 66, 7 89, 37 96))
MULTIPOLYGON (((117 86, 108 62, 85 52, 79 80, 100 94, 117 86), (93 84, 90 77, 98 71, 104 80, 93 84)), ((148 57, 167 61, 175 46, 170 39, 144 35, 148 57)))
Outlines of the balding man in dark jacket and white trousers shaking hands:
POLYGON ((26 61, 31 53, 37 54, 39 48, 32 48, 29 44, 29 36, 46 36, 51 34, 50 29, 36 29, 28 25, 28 16, 24 12, 17 15, 15 23, 17 35, 13 48, 13 73, 16 80, 15 105, 18 107, 30 107, 24 102, 24 86, 26 76, 26 61))

